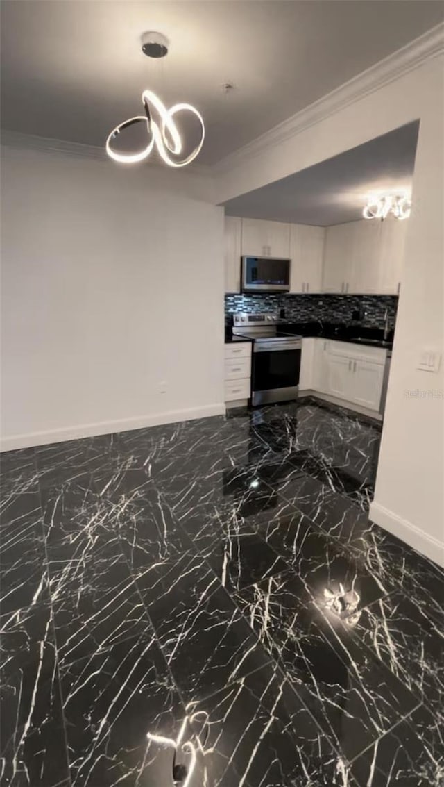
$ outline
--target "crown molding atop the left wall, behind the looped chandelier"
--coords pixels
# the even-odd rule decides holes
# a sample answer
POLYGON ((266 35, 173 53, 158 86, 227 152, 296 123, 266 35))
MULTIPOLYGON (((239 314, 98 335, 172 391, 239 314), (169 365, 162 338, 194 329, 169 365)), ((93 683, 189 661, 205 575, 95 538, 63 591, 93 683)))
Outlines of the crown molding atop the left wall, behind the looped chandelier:
MULTIPOLYGON (((50 137, 39 137, 34 134, 22 134, 20 131, 8 131, 2 129, 0 136, 2 146, 14 148, 15 150, 39 150, 42 153, 61 153, 63 156, 74 158, 92 158, 96 161, 113 163, 108 157, 105 147, 94 145, 83 145, 80 142, 68 142, 64 139, 52 139, 50 137)), ((114 164, 116 165, 116 164, 114 164)), ((145 166, 165 169, 162 161, 146 161, 145 166)), ((172 168, 167 167, 167 171, 173 172, 172 168)), ((177 170, 174 170, 177 172, 177 170)), ((207 164, 189 164, 186 168, 188 175, 211 177, 212 170, 207 164)))

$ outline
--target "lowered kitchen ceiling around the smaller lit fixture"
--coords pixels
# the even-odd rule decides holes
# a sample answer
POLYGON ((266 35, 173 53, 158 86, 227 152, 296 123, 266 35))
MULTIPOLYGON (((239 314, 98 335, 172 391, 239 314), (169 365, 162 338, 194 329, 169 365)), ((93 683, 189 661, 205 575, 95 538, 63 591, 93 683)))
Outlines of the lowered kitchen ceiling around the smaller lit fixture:
POLYGON ((369 194, 411 194, 419 121, 226 202, 228 216, 327 227, 362 218, 369 194))

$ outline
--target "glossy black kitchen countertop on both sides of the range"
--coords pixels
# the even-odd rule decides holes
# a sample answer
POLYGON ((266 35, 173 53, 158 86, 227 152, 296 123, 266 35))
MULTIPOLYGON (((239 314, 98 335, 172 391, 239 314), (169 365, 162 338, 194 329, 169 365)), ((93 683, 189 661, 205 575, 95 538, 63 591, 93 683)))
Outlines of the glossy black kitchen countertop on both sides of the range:
MULTIPOLYGON (((318 337, 324 339, 336 339, 337 342, 350 342, 351 344, 367 345, 368 347, 382 347, 392 349, 393 333, 388 333, 387 342, 383 341, 383 329, 364 327, 360 325, 345 325, 344 323, 279 323, 281 331, 289 334, 299 334, 303 337, 318 337)), ((248 338, 233 336, 230 327, 225 331, 225 342, 248 342, 248 338)))

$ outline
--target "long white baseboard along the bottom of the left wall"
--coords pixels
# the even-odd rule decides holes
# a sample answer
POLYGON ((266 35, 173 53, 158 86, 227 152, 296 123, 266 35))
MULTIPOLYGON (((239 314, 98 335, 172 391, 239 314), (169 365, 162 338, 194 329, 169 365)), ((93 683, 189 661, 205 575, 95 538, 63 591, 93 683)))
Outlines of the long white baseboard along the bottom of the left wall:
POLYGON ((163 423, 176 423, 178 421, 189 421, 209 416, 223 416, 225 412, 225 404, 221 402, 220 405, 204 405, 204 407, 193 407, 187 410, 170 410, 169 412, 160 412, 152 416, 134 416, 116 421, 83 423, 80 426, 50 429, 45 432, 13 434, 0 440, 0 451, 32 448, 35 445, 48 445, 53 442, 94 437, 97 434, 112 434, 112 432, 156 427, 163 423))

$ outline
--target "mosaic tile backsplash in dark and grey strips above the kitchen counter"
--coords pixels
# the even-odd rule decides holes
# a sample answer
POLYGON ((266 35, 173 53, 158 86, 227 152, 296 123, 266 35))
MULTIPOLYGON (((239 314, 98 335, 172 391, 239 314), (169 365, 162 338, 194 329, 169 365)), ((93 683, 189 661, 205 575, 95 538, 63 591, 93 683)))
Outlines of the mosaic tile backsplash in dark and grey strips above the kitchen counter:
POLYGON ((286 323, 350 323, 354 311, 361 312, 361 325, 383 327, 387 309, 391 326, 396 320, 397 295, 226 295, 225 321, 237 312, 274 312, 285 310, 286 323))

